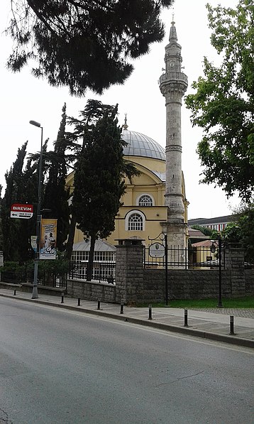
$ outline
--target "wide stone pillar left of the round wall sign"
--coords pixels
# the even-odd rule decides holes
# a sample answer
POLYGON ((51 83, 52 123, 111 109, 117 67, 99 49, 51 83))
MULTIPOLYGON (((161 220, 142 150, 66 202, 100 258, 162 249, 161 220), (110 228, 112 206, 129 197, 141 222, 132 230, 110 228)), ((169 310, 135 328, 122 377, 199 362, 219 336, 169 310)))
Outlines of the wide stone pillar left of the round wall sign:
POLYGON ((141 239, 118 239, 116 302, 136 304, 143 297, 144 246, 141 239))

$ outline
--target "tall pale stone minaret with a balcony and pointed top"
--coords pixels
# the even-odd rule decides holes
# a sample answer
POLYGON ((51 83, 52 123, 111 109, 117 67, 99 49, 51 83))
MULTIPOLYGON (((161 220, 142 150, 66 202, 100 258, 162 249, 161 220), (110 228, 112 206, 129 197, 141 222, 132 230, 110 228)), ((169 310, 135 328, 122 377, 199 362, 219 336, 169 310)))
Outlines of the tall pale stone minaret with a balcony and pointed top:
POLYGON ((181 46, 177 43, 174 18, 169 43, 165 47, 165 74, 160 77, 160 91, 166 104, 166 189, 168 244, 186 246, 184 202, 182 196, 182 97, 188 86, 187 75, 182 72, 181 46))

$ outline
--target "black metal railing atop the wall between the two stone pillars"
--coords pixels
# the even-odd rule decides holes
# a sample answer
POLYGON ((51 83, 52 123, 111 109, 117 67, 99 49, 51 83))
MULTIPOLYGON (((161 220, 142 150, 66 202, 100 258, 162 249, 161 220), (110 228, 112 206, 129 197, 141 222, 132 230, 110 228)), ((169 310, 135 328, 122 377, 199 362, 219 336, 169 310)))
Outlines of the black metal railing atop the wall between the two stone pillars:
MULTIPOLYGON (((145 248, 145 268, 165 268, 165 256, 154 258, 149 254, 149 248, 145 248)), ((167 247, 167 267, 168 268, 218 268, 219 267, 219 252, 214 254, 207 247, 186 247, 179 246, 167 247)), ((225 252, 221 249, 221 267, 225 267, 225 252)))

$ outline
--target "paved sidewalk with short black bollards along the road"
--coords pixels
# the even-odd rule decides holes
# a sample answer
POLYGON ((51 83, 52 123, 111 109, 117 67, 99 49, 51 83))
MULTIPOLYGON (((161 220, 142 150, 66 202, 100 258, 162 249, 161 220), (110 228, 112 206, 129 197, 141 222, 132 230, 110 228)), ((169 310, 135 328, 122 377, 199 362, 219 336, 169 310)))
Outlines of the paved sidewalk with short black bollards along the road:
POLYGON ((54 305, 59 308, 79 310, 89 314, 160 328, 161 330, 238 344, 239 346, 254 347, 253 309, 192 309, 184 312, 184 309, 169 307, 149 310, 149 308, 131 308, 126 305, 121 307, 121 305, 115 303, 78 300, 67 296, 62 298, 61 295, 59 297, 40 294, 38 299, 32 299, 31 293, 23 293, 18 290, 14 292, 14 290, 8 289, 0 289, 0 296, 13 298, 13 300, 26 300, 44 305, 54 305), (14 295, 14 293, 16 294, 14 295), (231 335, 230 316, 233 316, 234 333, 231 335))

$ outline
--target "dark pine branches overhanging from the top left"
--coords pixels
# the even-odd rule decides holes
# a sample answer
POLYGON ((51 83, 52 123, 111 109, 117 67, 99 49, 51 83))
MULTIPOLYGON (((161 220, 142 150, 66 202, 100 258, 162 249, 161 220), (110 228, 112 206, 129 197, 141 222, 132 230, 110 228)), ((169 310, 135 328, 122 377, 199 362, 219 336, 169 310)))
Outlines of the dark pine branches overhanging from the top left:
POLYGON ((11 0, 9 68, 38 62, 33 75, 71 94, 101 94, 131 75, 131 60, 161 41, 163 7, 174 0, 11 0))

